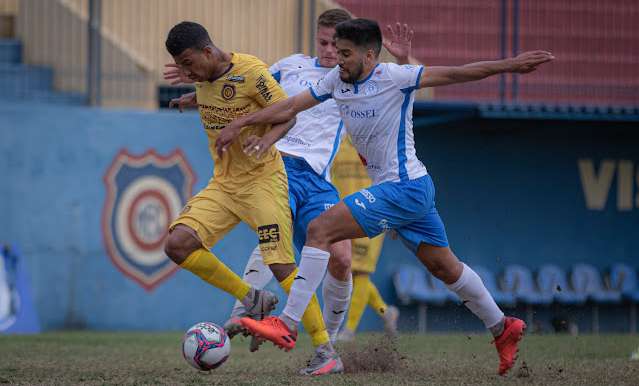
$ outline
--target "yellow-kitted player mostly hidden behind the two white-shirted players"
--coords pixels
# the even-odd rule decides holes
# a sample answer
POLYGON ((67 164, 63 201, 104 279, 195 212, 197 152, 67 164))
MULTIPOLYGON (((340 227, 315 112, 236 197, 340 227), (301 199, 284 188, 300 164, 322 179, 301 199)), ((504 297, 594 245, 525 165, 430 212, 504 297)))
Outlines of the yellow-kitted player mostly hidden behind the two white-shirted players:
MULTIPOLYGON (((339 152, 335 156, 333 168, 331 169, 331 179, 342 199, 372 185, 372 181, 357 150, 351 143, 350 137, 346 137, 342 141, 339 152)), ((390 335, 397 333, 399 310, 395 306, 386 305, 377 287, 370 280, 370 275, 375 272, 383 243, 384 233, 372 239, 363 237, 351 240, 353 294, 351 296, 351 305, 348 309, 346 326, 337 336, 337 340, 351 341, 355 338, 355 331, 367 304, 384 320, 386 333, 390 335)))

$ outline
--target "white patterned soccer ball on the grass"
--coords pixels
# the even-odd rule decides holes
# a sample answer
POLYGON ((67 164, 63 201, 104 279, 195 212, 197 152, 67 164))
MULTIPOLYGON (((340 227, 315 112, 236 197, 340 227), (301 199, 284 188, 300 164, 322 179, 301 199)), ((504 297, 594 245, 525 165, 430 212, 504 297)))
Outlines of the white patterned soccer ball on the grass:
POLYGON ((231 341, 226 331, 215 323, 201 322, 184 334, 182 355, 198 370, 213 370, 224 363, 231 353, 231 341))

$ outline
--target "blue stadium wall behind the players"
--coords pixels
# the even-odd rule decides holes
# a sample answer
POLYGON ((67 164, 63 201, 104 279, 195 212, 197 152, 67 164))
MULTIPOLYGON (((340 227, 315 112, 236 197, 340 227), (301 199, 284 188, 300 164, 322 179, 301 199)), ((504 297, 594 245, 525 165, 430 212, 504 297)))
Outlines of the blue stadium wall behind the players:
MULTIPOLYGON (((232 299, 188 272, 167 274, 152 289, 126 276, 107 253, 101 223, 103 179, 123 150, 179 149, 196 176, 193 192, 206 185, 212 161, 196 114, 5 104, 0 117, 0 241, 20 247, 44 329, 165 330, 225 320, 232 299)), ((419 156, 451 246, 465 261, 496 273, 511 263, 638 265, 636 124, 463 114, 417 121, 419 156)), ((240 272, 256 242, 240 225, 214 252, 240 272)), ((387 240, 373 279, 390 302, 401 263, 417 264, 387 240)), ((361 327, 381 322, 369 310, 361 327)))

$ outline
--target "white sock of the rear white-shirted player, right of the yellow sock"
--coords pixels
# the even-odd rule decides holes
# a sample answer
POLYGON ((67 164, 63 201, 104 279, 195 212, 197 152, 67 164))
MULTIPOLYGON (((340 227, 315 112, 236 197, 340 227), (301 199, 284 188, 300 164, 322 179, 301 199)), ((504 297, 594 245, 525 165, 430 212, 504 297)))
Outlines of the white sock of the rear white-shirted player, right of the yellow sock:
POLYGON ((351 292, 353 291, 353 279, 348 275, 347 281, 337 280, 330 272, 324 276, 322 282, 322 297, 324 298, 324 323, 331 342, 337 338, 344 316, 351 302, 351 292))

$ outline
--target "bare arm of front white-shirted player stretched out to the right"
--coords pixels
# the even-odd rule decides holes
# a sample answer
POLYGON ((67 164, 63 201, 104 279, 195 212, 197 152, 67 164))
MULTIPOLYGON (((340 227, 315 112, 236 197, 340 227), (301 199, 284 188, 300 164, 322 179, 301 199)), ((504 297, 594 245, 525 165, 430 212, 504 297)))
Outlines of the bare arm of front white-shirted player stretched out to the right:
POLYGON ((514 58, 476 62, 463 66, 425 67, 419 81, 419 87, 436 87, 448 84, 471 82, 505 72, 527 74, 535 71, 541 64, 555 57, 547 51, 528 51, 514 58))

